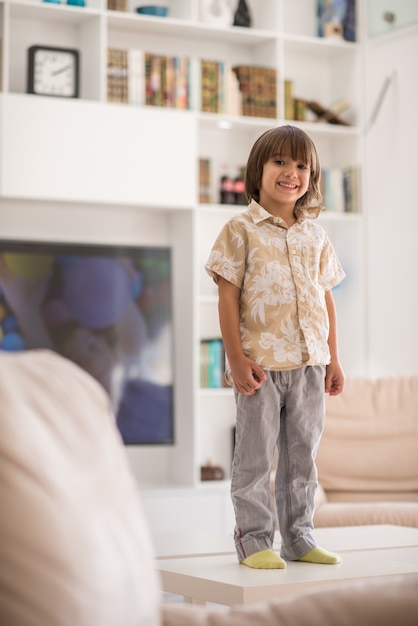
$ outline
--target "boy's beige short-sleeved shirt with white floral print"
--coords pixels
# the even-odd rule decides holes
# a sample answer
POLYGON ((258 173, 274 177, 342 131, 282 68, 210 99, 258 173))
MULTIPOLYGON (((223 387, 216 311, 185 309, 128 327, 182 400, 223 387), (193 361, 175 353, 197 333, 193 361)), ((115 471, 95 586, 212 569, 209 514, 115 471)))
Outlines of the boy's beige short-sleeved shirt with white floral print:
POLYGON ((288 227, 253 200, 225 224, 205 265, 215 282, 222 276, 241 290, 243 350, 263 369, 330 361, 325 292, 345 273, 314 219, 319 211, 299 211, 288 227))

